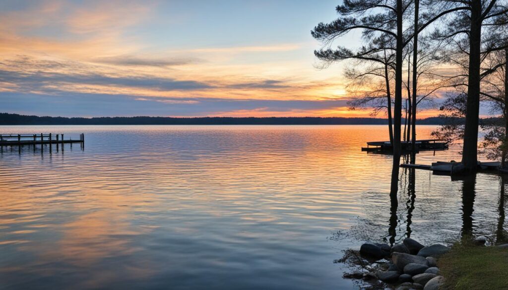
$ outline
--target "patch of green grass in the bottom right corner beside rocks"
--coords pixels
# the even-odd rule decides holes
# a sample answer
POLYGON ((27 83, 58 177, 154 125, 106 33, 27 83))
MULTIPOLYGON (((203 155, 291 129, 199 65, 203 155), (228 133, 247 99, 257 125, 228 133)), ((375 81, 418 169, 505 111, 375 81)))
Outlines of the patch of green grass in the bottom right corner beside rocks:
POLYGON ((440 257, 445 290, 508 289, 508 249, 456 244, 440 257))

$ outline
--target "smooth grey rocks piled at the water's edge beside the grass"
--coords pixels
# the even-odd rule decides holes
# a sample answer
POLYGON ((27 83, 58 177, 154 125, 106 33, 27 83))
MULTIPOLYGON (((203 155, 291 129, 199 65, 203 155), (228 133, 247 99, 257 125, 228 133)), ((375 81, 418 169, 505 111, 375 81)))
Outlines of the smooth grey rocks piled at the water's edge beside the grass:
MULTIPOLYGON (((487 238, 475 238, 473 243, 485 245, 487 238)), ((424 246, 411 238, 390 246, 383 243, 364 243, 360 256, 371 263, 383 263, 376 271, 345 273, 344 278, 382 281, 397 290, 438 290, 444 283, 437 260, 450 251, 441 244, 424 246)))

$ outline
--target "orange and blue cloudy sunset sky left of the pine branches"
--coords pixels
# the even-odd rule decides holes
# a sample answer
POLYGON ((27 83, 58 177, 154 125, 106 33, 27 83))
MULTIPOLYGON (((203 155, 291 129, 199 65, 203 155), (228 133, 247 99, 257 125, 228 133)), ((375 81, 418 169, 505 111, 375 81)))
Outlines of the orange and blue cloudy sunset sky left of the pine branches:
POLYGON ((0 112, 368 116, 347 110, 346 62, 316 68, 310 30, 337 4, 1 1, 0 112))

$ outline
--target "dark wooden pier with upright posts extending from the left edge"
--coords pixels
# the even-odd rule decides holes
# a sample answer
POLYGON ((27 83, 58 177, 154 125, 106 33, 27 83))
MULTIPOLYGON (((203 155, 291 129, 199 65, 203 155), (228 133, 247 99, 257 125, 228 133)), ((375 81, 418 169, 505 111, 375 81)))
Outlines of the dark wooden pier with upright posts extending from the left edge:
MULTIPOLYGON (((63 148, 63 144, 73 144, 80 143, 81 146, 84 146, 85 143, 85 135, 80 134, 79 139, 64 139, 63 134, 0 134, 0 147, 4 146, 18 146, 21 150, 22 146, 33 145, 34 148, 36 145, 52 145, 58 146, 61 145, 63 148)), ((58 148, 58 147, 57 147, 58 148)))

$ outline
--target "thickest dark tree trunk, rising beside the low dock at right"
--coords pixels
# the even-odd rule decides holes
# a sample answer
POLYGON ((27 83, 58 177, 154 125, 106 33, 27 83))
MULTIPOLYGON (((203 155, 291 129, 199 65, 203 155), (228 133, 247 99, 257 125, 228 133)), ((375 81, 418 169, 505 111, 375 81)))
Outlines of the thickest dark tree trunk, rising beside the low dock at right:
POLYGON ((468 172, 478 167, 478 125, 480 114, 480 49, 482 38, 482 2, 471 0, 469 33, 469 76, 467 81, 466 121, 462 164, 468 172))

